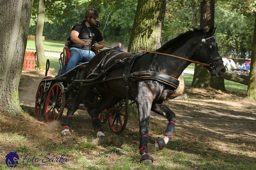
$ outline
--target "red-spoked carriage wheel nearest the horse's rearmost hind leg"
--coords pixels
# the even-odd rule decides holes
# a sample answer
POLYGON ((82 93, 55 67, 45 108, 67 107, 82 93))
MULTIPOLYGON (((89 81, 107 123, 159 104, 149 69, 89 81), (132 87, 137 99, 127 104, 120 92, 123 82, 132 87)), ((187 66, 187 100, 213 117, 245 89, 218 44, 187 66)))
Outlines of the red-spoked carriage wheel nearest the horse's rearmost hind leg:
POLYGON ((45 118, 50 121, 57 121, 63 114, 65 107, 64 86, 61 83, 55 83, 49 90, 45 103, 45 118))

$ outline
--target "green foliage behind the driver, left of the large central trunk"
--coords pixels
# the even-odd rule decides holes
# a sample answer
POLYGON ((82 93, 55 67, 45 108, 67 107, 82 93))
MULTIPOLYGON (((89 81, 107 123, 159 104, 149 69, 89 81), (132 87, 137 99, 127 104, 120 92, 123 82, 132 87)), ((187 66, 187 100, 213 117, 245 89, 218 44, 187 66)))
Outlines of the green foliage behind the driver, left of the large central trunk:
MULTIPOLYGON (((130 25, 133 25, 137 1, 135 0, 124 0, 117 1, 115 4, 107 3, 108 1, 94 1, 96 4, 93 4, 91 1, 88 5, 86 4, 87 0, 77 1, 73 4, 70 1, 65 2, 55 2, 52 6, 45 4, 45 24, 43 29, 43 36, 46 40, 57 40, 57 41, 66 41, 70 36, 71 28, 77 23, 85 20, 84 14, 87 9, 95 8, 99 12, 98 20, 101 23, 99 30, 103 31, 105 23, 108 19, 106 28, 104 30, 104 36, 112 34, 116 31, 120 31, 123 28, 126 28, 130 25), (100 3, 101 2, 101 3, 100 3), (68 5, 70 3, 70 5, 68 5), (104 4, 104 5, 101 5, 104 4), (96 6, 95 6, 96 5, 96 6), (64 10, 63 10, 64 8, 64 10), (112 11, 112 12, 111 12, 112 11), (125 12, 123 12, 125 11, 125 12), (110 13, 111 12, 111 13, 110 13), (108 18, 108 14, 110 16, 108 18)), ((38 3, 38 2, 37 2, 38 3)), ((37 4, 38 5, 38 4, 37 4)), ((36 2, 34 2, 33 10, 38 8, 36 2)), ((36 12, 31 16, 31 24, 29 29, 29 35, 34 35, 36 31, 36 22, 37 15, 36 12)), ((132 27, 125 29, 124 31, 117 32, 111 36, 106 37, 104 40, 118 41, 123 45, 127 45, 130 39, 130 32, 132 27)))

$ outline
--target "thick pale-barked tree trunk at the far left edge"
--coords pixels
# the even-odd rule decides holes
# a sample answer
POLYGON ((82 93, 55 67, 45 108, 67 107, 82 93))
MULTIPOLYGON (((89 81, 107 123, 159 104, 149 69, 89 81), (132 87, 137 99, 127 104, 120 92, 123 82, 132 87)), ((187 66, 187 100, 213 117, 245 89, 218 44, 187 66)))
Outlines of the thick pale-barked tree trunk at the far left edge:
POLYGON ((19 115, 18 86, 33 0, 0 1, 0 113, 19 115))

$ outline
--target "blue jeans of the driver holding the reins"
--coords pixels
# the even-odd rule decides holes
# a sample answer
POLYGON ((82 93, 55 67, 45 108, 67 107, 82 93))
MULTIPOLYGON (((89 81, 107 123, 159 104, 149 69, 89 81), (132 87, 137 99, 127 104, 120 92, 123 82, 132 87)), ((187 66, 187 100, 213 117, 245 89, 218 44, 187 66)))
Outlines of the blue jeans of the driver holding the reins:
POLYGON ((78 49, 74 47, 70 48, 69 50, 70 50, 70 58, 67 63, 66 72, 76 67, 76 64, 78 62, 90 61, 95 56, 95 53, 93 51, 90 51, 90 56, 89 56, 89 50, 83 50, 83 49, 78 49), (89 57, 89 60, 88 60, 88 57, 89 57))

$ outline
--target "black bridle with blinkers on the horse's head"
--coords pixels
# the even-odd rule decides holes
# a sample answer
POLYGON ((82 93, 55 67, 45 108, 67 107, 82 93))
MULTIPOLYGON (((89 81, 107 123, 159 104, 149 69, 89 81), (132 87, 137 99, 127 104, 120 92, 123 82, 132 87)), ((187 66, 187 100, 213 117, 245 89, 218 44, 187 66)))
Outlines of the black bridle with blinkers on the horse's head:
MULTIPOLYGON (((199 46, 199 48, 198 48, 198 50, 197 50, 195 56, 197 57, 198 52, 200 51, 200 49, 201 49, 201 47, 203 46, 203 43, 204 43, 204 45, 205 45, 205 47, 206 47, 206 50, 207 50, 207 53, 208 53, 208 55, 209 55, 209 57, 210 57, 210 60, 209 60, 206 64, 209 64, 209 65, 210 65, 210 66, 209 66, 210 68, 216 69, 217 67, 220 66, 220 64, 223 63, 223 61, 221 61, 220 64, 217 65, 217 67, 214 67, 213 61, 222 60, 222 57, 219 56, 219 57, 212 58, 212 56, 211 56, 211 54, 210 54, 210 51, 209 51, 209 48, 208 48, 207 43, 206 43, 207 40, 211 40, 211 42, 210 42, 211 45, 209 46, 210 48, 214 48, 215 50, 218 50, 218 46, 217 46, 217 44, 216 44, 216 42, 215 42, 215 40, 214 40, 214 37, 211 36, 211 37, 205 39, 205 34, 203 34, 203 37, 202 37, 202 40, 201 40, 202 43, 200 44, 200 46, 199 46)), ((204 67, 204 66, 203 66, 203 67, 204 67)))

